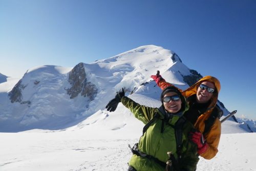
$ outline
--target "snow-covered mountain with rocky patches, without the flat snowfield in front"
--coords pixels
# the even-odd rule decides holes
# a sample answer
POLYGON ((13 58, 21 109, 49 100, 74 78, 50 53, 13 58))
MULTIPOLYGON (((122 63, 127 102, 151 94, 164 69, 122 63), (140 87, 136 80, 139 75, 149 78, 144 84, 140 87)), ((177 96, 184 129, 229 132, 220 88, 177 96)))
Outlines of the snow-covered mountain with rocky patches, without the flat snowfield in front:
MULTIPOLYGON (((156 70, 181 89, 202 78, 177 54, 155 45, 140 46, 91 64, 79 63, 74 68, 31 68, 13 87, 6 88, 6 82, 0 84, 0 132, 77 125, 102 112, 122 87, 126 95, 134 93, 158 101, 161 90, 152 86, 155 82, 150 78, 156 70)), ((229 113, 221 106, 224 115, 229 113)))

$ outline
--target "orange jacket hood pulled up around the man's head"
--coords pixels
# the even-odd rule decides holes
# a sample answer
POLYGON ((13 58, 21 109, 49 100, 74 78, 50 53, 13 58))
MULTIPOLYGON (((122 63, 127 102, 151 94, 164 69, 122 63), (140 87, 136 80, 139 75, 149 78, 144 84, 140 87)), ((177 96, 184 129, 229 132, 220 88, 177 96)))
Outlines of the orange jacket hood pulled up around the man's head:
POLYGON ((214 83, 215 87, 216 87, 216 92, 214 92, 214 95, 212 95, 211 97, 211 103, 209 105, 209 107, 214 107, 218 101, 218 94, 221 90, 221 84, 220 81, 212 76, 205 76, 202 79, 200 79, 198 82, 196 82, 194 85, 190 86, 189 88, 187 88, 186 90, 182 91, 181 93, 185 96, 185 97, 189 97, 193 94, 197 93, 197 89, 199 87, 199 85, 204 82, 204 81, 209 81, 214 83))

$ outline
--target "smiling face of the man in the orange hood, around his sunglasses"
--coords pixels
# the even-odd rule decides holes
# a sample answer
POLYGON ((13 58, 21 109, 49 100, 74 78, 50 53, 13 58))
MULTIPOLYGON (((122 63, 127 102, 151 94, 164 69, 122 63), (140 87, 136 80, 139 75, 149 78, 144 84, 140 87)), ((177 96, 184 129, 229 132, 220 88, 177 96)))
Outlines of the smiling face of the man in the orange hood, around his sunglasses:
MULTIPOLYGON (((201 84, 204 84, 207 87, 216 89, 214 83, 205 81, 205 82, 202 82, 201 84)), ((202 89, 202 88, 198 87, 198 89, 197 89, 197 102, 198 103, 207 103, 211 99, 212 95, 214 95, 214 93, 210 93, 207 90, 207 88, 202 89)))

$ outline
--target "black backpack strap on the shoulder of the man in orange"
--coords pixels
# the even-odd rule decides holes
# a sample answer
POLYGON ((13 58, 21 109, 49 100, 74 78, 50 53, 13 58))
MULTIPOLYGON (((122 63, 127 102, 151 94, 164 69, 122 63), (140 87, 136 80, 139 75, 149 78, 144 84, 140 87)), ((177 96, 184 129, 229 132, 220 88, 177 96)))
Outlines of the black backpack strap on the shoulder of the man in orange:
POLYGON ((221 116, 223 115, 223 111, 221 110, 221 108, 216 105, 214 107, 214 110, 211 111, 210 116, 208 117, 208 119, 206 119, 204 121, 205 126, 204 126, 204 132, 203 134, 206 134, 210 131, 210 128, 212 125, 214 125, 214 122, 217 118, 221 118, 221 116))

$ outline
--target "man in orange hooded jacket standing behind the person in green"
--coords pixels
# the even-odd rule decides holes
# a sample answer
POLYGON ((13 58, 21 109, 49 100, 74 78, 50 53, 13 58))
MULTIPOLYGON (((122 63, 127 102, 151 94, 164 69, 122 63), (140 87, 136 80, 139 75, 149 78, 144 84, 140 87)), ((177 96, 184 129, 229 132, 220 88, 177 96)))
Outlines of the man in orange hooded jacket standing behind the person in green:
MULTIPOLYGON (((167 86, 174 86, 166 82, 159 75, 159 71, 157 75, 153 75, 151 78, 156 81, 161 89, 167 86)), ((221 85, 217 78, 206 76, 186 90, 180 90, 189 104, 189 110, 185 112, 184 116, 197 129, 197 131, 190 134, 190 139, 197 144, 198 154, 205 159, 212 159, 218 153, 221 136, 220 119, 215 119, 209 131, 204 131, 205 121, 207 121, 216 106, 220 89, 221 85)))

